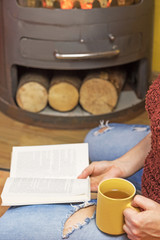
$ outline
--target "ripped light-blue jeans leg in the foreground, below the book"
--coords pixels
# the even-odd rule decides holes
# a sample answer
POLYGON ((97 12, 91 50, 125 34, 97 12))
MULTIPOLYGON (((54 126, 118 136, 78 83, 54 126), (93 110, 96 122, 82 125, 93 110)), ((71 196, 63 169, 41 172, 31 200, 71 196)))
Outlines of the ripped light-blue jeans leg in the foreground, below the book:
MULTIPOLYGON (((96 201, 90 201, 95 204, 96 201)), ((98 230, 95 215, 83 226, 62 236, 68 217, 84 204, 51 204, 11 207, 0 218, 0 240, 127 240, 126 235, 110 236, 98 230)))

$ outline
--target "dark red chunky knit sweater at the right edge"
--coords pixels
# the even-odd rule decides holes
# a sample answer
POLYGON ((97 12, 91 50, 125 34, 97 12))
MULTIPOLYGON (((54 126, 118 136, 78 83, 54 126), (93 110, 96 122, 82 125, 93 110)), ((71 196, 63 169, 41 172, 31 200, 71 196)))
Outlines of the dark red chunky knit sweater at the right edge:
POLYGON ((160 203, 160 76, 147 92, 146 110, 152 137, 151 151, 146 158, 142 177, 142 194, 160 203))

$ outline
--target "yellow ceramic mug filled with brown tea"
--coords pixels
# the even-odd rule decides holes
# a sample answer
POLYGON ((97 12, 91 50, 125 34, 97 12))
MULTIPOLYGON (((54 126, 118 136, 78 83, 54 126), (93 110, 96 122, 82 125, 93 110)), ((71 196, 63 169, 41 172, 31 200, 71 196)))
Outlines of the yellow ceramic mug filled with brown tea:
POLYGON ((106 179, 99 184, 96 225, 102 232, 111 235, 124 233, 123 211, 127 207, 133 208, 131 202, 135 193, 135 186, 122 178, 106 179))

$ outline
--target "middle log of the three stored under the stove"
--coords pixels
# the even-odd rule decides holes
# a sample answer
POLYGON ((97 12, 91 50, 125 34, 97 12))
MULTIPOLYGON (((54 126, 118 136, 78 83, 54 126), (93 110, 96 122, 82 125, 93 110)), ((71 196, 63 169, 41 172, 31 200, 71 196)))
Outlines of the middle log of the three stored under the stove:
POLYGON ((50 83, 49 105, 61 112, 73 110, 79 102, 81 80, 72 75, 55 75, 50 83))

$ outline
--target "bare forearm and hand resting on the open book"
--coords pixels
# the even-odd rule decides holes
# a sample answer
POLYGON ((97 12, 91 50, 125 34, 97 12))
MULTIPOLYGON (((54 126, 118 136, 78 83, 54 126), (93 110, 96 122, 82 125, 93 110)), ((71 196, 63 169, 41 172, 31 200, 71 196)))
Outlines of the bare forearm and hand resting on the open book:
MULTIPOLYGON (((123 140, 122 140, 123 141, 123 140)), ((92 162, 78 178, 91 178, 91 191, 97 191, 99 183, 106 178, 126 178, 137 172, 144 165, 144 161, 151 147, 151 133, 142 139, 120 158, 114 161, 92 162), (148 151, 146 151, 148 149, 148 151)))

